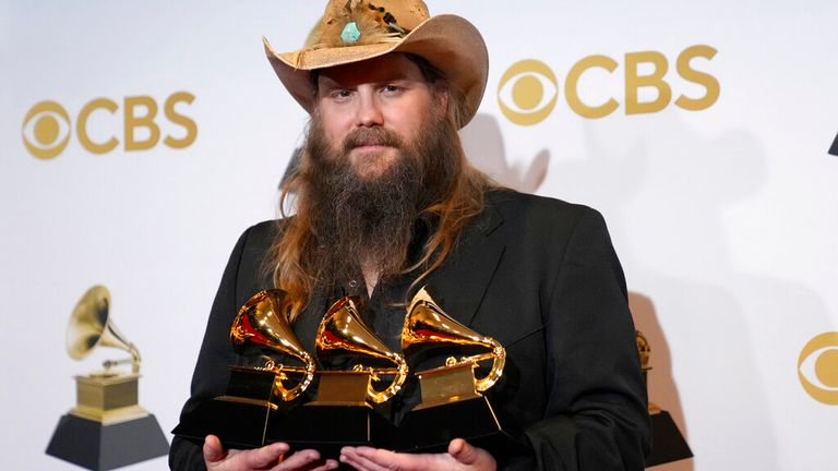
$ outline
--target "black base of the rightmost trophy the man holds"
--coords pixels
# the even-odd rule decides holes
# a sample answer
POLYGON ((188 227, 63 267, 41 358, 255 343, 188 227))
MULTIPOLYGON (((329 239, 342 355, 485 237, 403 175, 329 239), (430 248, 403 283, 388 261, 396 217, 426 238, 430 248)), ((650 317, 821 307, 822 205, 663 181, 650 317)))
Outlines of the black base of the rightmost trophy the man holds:
POLYGON ((482 396, 433 407, 420 406, 405 415, 398 430, 399 443, 394 448, 407 452, 445 451, 454 438, 464 438, 487 449, 513 444, 489 399, 482 396))

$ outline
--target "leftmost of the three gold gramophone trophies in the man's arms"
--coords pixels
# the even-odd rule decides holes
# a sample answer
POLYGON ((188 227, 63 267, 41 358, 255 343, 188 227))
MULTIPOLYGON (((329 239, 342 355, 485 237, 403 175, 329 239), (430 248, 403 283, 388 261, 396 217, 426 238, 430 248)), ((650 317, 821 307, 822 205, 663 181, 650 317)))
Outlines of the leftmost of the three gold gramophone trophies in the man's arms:
POLYGON ((213 434, 234 448, 258 448, 272 442, 268 423, 283 428, 277 424, 283 414, 275 412, 290 409, 286 403, 306 391, 315 371, 314 360, 288 322, 290 309, 286 292, 278 289, 260 291, 244 303, 230 327, 230 343, 237 353, 255 358, 262 365, 232 366, 226 394, 185 414, 172 431, 175 435, 203 442, 213 434), (273 355, 297 364, 277 363, 273 355))

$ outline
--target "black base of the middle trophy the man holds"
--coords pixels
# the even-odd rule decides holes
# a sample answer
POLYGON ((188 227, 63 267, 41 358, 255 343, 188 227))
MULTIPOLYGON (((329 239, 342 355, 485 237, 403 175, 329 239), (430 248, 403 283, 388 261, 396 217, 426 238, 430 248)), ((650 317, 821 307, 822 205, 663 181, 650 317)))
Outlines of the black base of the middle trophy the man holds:
POLYGON ((306 404, 279 416, 273 414, 268 421, 265 444, 312 448, 323 458, 339 457, 344 446, 386 447, 396 434, 393 424, 369 406, 306 404))

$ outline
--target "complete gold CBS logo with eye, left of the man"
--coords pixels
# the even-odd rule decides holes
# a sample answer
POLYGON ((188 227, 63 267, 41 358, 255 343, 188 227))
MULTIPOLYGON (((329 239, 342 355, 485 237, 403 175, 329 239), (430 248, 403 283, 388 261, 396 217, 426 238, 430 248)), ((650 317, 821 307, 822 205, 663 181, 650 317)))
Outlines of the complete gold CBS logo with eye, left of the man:
MULTIPOLYGON (((163 110, 169 123, 182 128, 176 135, 168 134, 163 143, 171 148, 184 148, 195 142, 197 125, 191 118, 179 112, 179 104, 191 105, 195 96, 188 92, 171 94, 164 102, 163 110)), ((109 118, 119 111, 119 104, 109 98, 88 101, 75 119, 75 134, 82 147, 93 154, 106 154, 120 144, 109 118)), ((122 100, 122 143, 128 150, 145 150, 160 142, 160 126, 156 118, 157 101, 145 95, 124 97, 122 100)), ((70 116, 56 101, 40 101, 29 109, 23 119, 23 144, 26 150, 39 159, 51 159, 61 154, 70 142, 70 116)))

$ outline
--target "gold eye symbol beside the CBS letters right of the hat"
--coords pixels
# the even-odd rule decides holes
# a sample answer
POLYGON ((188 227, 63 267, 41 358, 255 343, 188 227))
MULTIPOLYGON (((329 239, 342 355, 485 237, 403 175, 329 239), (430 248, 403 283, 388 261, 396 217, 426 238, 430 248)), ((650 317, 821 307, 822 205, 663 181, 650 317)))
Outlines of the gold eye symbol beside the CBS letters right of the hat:
POLYGON ((531 125, 543 121, 555 107, 559 82, 547 64, 535 59, 514 63, 498 86, 498 104, 510 121, 531 125))

